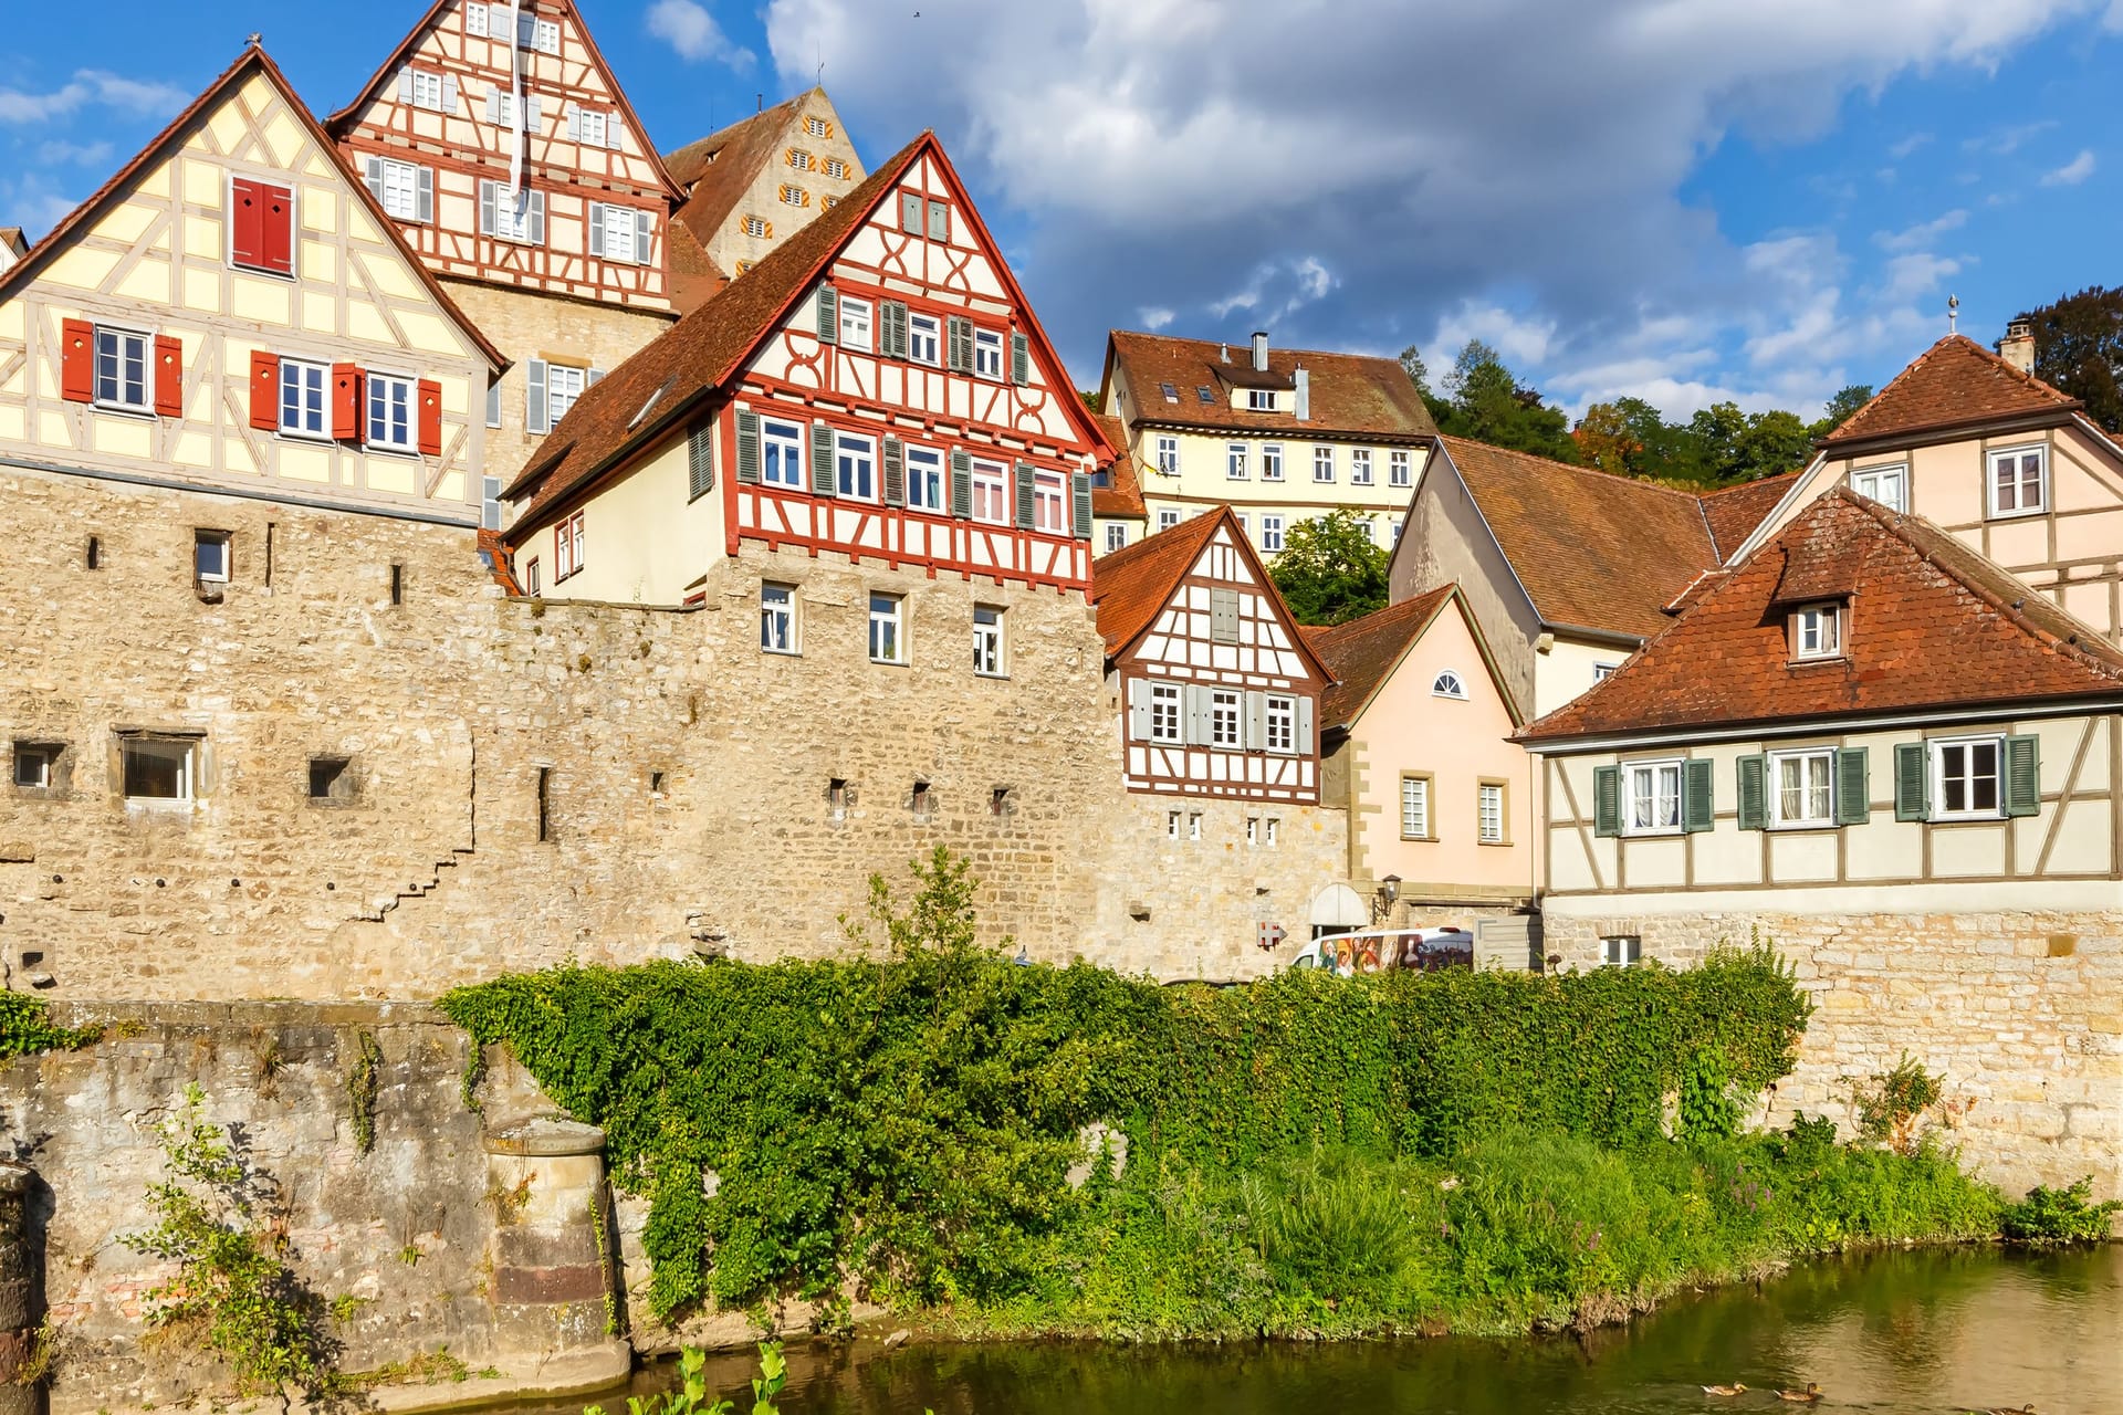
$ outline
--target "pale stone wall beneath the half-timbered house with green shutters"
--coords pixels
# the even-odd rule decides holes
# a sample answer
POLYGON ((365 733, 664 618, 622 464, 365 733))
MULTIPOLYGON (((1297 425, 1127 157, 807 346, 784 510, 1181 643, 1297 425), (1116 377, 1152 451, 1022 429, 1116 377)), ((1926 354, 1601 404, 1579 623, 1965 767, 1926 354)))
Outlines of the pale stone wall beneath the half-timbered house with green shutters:
POLYGON ((1675 967, 1775 942, 1815 1012, 1766 1124, 1805 1110, 1849 1126, 1851 1084, 1909 1052, 1945 1076, 1940 1139, 1987 1177, 2123 1194, 2123 914, 1550 914, 1546 933, 1563 967, 1596 967, 1616 936, 1675 967))

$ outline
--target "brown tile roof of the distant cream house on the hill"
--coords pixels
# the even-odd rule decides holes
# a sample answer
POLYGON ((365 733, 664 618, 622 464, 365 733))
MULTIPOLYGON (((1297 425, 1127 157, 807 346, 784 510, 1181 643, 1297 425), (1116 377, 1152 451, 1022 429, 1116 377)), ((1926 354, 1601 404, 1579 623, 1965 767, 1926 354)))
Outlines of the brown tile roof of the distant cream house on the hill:
POLYGON ((1253 371, 1253 346, 1233 344, 1231 363, 1223 346, 1206 339, 1174 339, 1157 333, 1115 329, 1106 346, 1106 382, 1112 371, 1127 375, 1136 399, 1136 422, 1153 426, 1187 426, 1246 433, 1361 433, 1367 437, 1435 437, 1437 424, 1422 395, 1395 359, 1369 354, 1325 354, 1318 350, 1270 348, 1267 371, 1276 386, 1289 388, 1295 371, 1310 373, 1312 416, 1297 420, 1295 412, 1250 414, 1231 407, 1231 388, 1259 384, 1253 371), (1178 403, 1166 403, 1159 384, 1178 390, 1178 403), (1210 388, 1214 403, 1204 403, 1197 388, 1210 388))

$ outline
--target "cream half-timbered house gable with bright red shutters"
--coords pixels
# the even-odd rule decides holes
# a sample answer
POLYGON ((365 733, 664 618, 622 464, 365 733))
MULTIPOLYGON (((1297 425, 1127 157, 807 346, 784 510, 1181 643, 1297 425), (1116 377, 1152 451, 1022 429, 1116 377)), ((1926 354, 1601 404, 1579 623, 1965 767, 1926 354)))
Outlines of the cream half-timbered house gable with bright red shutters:
POLYGON ((21 467, 469 528, 501 367, 257 47, 0 276, 21 467))

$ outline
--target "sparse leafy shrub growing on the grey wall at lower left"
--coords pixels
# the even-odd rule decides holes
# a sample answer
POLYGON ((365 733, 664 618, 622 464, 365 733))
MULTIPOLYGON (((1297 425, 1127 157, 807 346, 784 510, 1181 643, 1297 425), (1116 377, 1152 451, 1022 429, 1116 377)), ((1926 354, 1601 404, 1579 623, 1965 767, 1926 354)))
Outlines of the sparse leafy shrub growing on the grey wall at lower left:
POLYGON ((238 1394, 316 1396, 331 1385, 331 1349, 321 1334, 323 1303, 282 1262, 284 1226, 267 1211, 272 1186, 251 1171, 234 1135, 204 1118, 206 1097, 187 1086, 185 1105, 161 1126, 168 1177, 146 1190, 157 1220, 119 1241, 176 1264, 176 1277, 146 1292, 151 1328, 195 1332, 227 1360, 238 1394))

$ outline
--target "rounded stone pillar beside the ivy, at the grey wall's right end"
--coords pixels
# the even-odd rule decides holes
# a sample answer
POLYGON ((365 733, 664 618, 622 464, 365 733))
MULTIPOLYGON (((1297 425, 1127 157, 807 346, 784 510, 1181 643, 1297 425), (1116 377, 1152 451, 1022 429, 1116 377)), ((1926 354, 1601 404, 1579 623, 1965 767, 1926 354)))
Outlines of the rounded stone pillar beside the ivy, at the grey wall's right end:
MULTIPOLYGON (((618 1339, 605 1133, 529 1120, 486 1137, 495 1207, 495 1337, 501 1351, 563 1356, 618 1339)), ((0 1407, 0 1415, 6 1415, 0 1407)))

